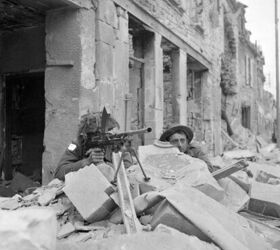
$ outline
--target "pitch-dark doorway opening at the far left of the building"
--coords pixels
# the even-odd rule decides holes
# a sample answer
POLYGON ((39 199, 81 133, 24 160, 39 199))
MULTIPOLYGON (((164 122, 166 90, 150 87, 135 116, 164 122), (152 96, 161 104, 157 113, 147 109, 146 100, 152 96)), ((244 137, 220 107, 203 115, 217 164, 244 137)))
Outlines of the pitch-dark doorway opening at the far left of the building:
POLYGON ((44 73, 5 77, 4 176, 15 171, 41 182, 45 130, 44 73))

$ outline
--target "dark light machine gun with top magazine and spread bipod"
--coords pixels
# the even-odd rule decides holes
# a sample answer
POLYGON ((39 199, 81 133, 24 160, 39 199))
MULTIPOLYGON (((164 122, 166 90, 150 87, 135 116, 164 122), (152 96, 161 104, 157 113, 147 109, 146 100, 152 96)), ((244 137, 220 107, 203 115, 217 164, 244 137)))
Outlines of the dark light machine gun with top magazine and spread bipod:
POLYGON ((148 177, 143 169, 143 166, 135 152, 135 150, 132 148, 131 145, 131 136, 133 135, 140 135, 144 133, 150 133, 152 131, 152 128, 142 128, 139 130, 130 130, 125 131, 123 133, 110 133, 106 131, 106 124, 109 118, 109 114, 107 113, 106 108, 103 108, 102 117, 101 117, 101 132, 99 135, 92 136, 89 138, 89 140, 86 142, 86 149, 90 148, 101 148, 104 149, 107 146, 112 146, 113 148, 119 149, 121 152, 120 161, 117 164, 117 169, 114 175, 114 179, 112 181, 113 184, 116 183, 117 175, 120 170, 121 163, 123 161, 123 156, 125 152, 129 152, 132 156, 134 156, 137 160, 137 163, 139 164, 139 167, 141 168, 141 171, 144 175, 144 180, 149 181, 150 177, 148 177))

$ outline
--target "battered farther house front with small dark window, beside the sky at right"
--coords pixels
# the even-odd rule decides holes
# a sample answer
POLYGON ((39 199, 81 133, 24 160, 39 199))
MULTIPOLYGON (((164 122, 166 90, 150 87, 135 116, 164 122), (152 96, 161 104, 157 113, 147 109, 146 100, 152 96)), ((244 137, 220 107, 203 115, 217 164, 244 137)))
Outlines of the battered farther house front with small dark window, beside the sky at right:
MULTIPOLYGON (((229 8, 229 6, 227 7, 229 8)), ((263 91, 263 63, 258 47, 250 41, 245 28, 245 6, 237 3, 235 11, 224 11, 224 53, 222 58, 222 109, 233 130, 232 139, 248 145, 259 131, 258 102, 263 91), (233 60, 232 60, 233 59, 233 60)), ((226 130, 223 120, 222 127, 226 130)), ((226 141, 223 141, 226 147, 226 141)))

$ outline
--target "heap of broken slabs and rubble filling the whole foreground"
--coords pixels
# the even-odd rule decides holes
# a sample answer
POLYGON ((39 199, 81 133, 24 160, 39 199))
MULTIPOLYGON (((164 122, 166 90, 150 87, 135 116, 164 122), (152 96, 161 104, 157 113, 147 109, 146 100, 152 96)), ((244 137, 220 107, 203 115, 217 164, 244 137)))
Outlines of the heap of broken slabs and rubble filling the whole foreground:
POLYGON ((129 210, 120 208, 120 190, 100 167, 90 165, 67 174, 65 182, 54 179, 22 195, 1 197, 0 219, 11 225, 1 223, 0 244, 6 242, 4 249, 20 244, 57 250, 280 249, 278 156, 270 144, 258 152, 224 152, 212 159, 213 165, 224 168, 246 159, 249 167, 216 180, 203 161, 174 147, 159 142, 142 146, 139 158, 150 180, 138 165, 127 169, 139 232, 126 232, 123 211, 129 210), (44 230, 42 239, 33 234, 44 230), (16 244, 10 234, 21 235, 16 244))

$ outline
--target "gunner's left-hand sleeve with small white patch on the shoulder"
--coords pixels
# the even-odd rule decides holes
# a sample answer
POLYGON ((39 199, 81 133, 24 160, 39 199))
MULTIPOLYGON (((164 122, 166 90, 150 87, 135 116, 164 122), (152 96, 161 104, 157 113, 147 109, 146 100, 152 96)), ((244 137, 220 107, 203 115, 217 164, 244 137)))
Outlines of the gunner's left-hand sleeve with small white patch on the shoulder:
POLYGON ((77 144, 71 143, 62 155, 55 170, 55 178, 65 179, 65 175, 74 172, 88 165, 87 158, 80 156, 80 149, 77 144))

